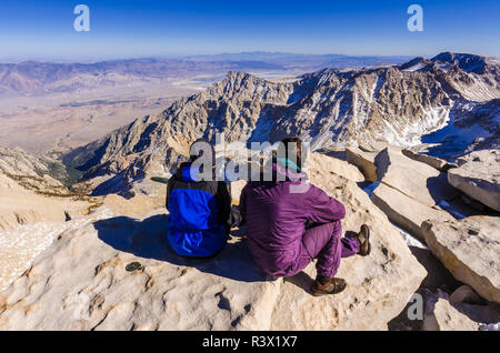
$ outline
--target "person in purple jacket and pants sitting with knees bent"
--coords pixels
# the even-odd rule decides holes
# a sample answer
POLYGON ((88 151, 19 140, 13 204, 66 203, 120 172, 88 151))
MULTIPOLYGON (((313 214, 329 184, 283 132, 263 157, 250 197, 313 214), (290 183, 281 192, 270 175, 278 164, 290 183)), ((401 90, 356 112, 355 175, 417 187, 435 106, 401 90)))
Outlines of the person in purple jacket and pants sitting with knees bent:
POLYGON ((344 206, 299 180, 306 175, 301 173, 302 143, 298 138, 284 139, 282 145, 286 158, 273 159, 272 180, 250 181, 241 193, 248 248, 266 273, 279 276, 297 274, 318 259, 311 293, 340 293, 346 289, 346 281, 334 278, 340 259, 368 255, 370 229, 363 224, 357 236, 342 238, 344 206))

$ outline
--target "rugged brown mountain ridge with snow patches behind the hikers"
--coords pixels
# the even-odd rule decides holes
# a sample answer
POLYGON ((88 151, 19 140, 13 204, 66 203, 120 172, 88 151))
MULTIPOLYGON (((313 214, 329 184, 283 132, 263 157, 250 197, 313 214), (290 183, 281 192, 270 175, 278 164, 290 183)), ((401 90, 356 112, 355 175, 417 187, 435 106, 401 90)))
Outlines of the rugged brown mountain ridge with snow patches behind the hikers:
POLYGON ((429 153, 452 159, 498 148, 500 65, 497 59, 441 53, 401 65, 323 69, 294 79, 264 80, 231 71, 206 91, 161 114, 137 119, 66 154, 84 179, 114 175, 120 190, 147 174, 162 175, 188 147, 217 132, 227 142, 277 142, 288 135, 313 149, 383 140, 432 143, 429 153))

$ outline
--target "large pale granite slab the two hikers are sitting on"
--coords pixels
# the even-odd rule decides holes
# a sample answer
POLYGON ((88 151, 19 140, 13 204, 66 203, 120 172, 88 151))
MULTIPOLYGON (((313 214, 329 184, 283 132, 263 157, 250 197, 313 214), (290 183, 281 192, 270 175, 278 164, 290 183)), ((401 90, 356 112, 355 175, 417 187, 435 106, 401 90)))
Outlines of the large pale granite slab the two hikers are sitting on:
POLYGON ((348 288, 341 294, 308 293, 312 264, 284 282, 264 275, 239 236, 213 259, 179 258, 167 243, 163 210, 96 215, 59 234, 0 293, 0 330, 387 329, 427 272, 368 194, 342 175, 356 169, 324 155, 313 161, 322 168, 311 182, 346 205, 344 230, 361 223, 373 230, 370 256, 342 262, 339 276, 348 288), (142 268, 128 272, 133 261, 142 268))

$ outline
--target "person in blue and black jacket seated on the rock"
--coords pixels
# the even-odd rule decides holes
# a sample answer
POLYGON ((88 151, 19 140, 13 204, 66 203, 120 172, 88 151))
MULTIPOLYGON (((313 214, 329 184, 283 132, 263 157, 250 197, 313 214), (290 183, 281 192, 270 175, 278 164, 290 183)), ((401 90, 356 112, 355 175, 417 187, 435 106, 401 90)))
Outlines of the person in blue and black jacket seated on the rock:
MULTIPOLYGON (((203 141, 197 140, 193 145, 199 142, 203 141)), ((202 153, 191 148, 189 162, 182 163, 168 182, 168 239, 170 246, 181 256, 213 256, 222 250, 230 229, 240 219, 239 212, 231 209, 227 183, 216 181, 216 154, 213 147, 210 149, 210 167, 197 165, 194 162, 202 153), (208 171, 203 168, 211 169, 211 178, 206 178, 208 171)))

